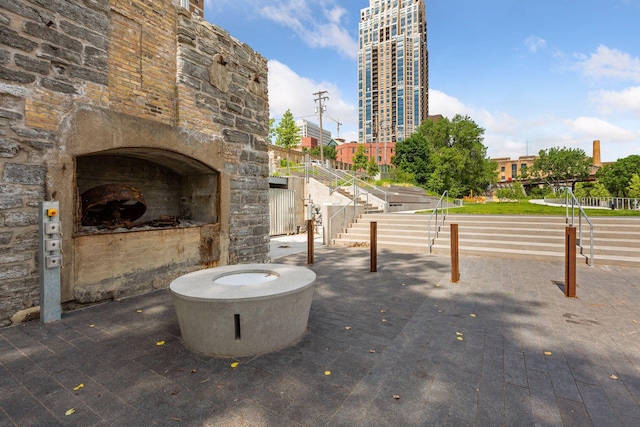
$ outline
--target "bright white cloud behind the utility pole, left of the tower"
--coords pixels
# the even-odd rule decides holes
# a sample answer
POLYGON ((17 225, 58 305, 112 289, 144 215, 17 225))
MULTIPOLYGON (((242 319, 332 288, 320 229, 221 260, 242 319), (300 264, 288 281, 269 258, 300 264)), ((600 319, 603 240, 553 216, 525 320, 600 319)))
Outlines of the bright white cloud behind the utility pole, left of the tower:
POLYGON ((327 91, 329 99, 326 101, 327 111, 323 115, 323 128, 337 135, 336 120, 341 123, 340 137, 348 141, 358 139, 358 111, 349 104, 338 89, 331 82, 317 82, 296 74, 287 65, 276 61, 269 61, 269 114, 279 120, 289 109, 296 118, 306 118, 318 123, 319 117, 315 111, 315 96, 318 91, 327 91))

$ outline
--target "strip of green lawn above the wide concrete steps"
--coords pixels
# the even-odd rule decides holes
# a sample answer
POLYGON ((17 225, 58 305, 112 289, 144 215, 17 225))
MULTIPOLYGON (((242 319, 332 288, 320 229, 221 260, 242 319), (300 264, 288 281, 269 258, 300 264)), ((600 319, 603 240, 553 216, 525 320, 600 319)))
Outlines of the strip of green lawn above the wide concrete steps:
MULTIPOLYGON (((451 205, 450 205, 451 206, 451 205)), ((576 209, 577 211, 577 209, 576 209)), ((640 216, 640 211, 611 210, 611 209, 584 209, 588 216, 640 216)), ((465 203, 462 207, 454 207, 449 210, 450 214, 469 215, 555 215, 564 216, 564 207, 538 205, 529 201, 500 203, 465 203)), ((431 211, 422 211, 428 213, 431 211)), ((571 213, 571 209, 569 210, 571 213)))

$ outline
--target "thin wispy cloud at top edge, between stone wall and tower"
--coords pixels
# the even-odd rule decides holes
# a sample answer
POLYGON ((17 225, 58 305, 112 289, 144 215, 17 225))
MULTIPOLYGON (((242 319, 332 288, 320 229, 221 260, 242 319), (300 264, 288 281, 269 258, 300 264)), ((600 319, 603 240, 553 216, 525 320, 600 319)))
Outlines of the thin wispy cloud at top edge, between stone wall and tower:
POLYGON ((358 43, 349 34, 349 27, 343 24, 347 16, 346 9, 332 3, 305 0, 270 1, 267 5, 261 6, 259 12, 265 18, 291 28, 311 47, 335 49, 341 55, 355 59, 358 43))

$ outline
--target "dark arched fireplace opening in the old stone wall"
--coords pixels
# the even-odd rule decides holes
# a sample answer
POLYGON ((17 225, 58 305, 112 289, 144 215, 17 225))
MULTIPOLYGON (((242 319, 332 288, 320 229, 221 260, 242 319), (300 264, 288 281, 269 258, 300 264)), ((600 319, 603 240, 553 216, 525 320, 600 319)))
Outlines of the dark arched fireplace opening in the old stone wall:
POLYGON ((192 227, 218 222, 219 174, 157 149, 76 158, 78 234, 192 227))

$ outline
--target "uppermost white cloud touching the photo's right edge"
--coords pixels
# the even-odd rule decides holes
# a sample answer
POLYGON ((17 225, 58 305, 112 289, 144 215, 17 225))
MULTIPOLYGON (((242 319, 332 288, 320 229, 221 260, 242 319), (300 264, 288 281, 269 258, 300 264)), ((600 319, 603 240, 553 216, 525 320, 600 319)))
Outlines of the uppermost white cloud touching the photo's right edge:
POLYGON ((578 67, 588 77, 640 82, 640 58, 628 53, 600 45, 589 56, 576 56, 579 59, 578 67))

